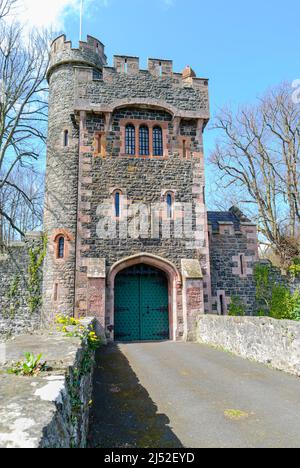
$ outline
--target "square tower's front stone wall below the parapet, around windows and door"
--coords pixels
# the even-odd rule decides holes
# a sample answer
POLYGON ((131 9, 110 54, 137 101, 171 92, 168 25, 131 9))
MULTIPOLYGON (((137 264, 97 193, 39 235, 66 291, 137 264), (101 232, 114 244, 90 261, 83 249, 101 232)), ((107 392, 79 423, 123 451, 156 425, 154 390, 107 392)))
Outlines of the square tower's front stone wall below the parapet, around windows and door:
MULTIPOLYGON (((98 309, 97 316, 103 326, 112 329, 111 291, 107 291, 105 306, 105 291, 100 289, 105 274, 109 274, 117 262, 130 261, 140 254, 171 262, 179 271, 182 260, 198 260, 203 275, 201 288, 204 289, 204 301, 202 291, 195 296, 198 313, 203 313, 204 308, 209 310, 210 267, 202 131, 190 121, 182 122, 176 130, 172 116, 166 111, 126 106, 112 114, 111 131, 105 134, 106 150, 98 153, 95 151, 95 135, 102 132, 103 127, 103 117, 91 114, 86 114, 81 124, 76 314, 89 314, 92 305, 93 310, 98 309), (164 155, 138 157, 123 154, 125 122, 133 122, 137 131, 145 122, 149 128, 152 123, 160 125, 165 130, 164 155), (188 142, 187 157, 183 157, 180 138, 188 142), (121 194, 119 219, 114 213, 116 191, 121 194), (167 219, 166 193, 173 196, 175 214, 172 220, 167 219), (146 229, 134 232, 133 225, 139 227, 143 213, 147 220, 146 229), (158 221, 155 232, 152 221, 158 221), (92 264, 98 264, 101 283, 97 272, 91 280, 89 267, 92 264)), ((173 283, 170 284, 173 288, 173 283)), ((177 338, 185 334, 180 287, 181 283, 176 285, 173 296, 177 307, 173 318, 177 338)))

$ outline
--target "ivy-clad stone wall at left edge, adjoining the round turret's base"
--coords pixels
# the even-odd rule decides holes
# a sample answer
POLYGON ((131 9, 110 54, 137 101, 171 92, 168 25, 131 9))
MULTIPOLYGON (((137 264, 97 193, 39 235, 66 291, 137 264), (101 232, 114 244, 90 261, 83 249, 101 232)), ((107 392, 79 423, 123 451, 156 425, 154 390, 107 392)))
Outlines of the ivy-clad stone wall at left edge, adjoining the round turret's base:
MULTIPOLYGON (((29 249, 42 248, 41 233, 30 233, 0 255, 0 339, 31 332, 40 326, 41 310, 29 307, 29 249)), ((41 294, 42 268, 36 295, 41 294)))

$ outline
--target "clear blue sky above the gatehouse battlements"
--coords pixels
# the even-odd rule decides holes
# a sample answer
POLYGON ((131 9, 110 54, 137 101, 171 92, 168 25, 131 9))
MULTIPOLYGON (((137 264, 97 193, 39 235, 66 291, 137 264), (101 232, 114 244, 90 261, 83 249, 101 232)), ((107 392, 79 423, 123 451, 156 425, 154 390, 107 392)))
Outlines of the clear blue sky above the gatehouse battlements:
MULTIPOLYGON (((83 32, 114 54, 174 60, 210 79, 212 116, 230 104, 254 102, 270 86, 300 78, 299 0, 85 0, 83 32)), ((76 10, 64 29, 76 43, 76 10)), ((65 11, 66 13, 66 11, 65 11)), ((206 133, 206 150, 214 145, 206 133)))

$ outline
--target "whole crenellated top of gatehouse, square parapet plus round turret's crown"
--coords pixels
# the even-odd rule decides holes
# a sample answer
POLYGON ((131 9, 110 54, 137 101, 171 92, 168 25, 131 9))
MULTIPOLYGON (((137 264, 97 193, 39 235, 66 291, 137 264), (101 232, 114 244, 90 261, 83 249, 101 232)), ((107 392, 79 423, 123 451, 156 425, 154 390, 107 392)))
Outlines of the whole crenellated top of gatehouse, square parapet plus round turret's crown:
MULTIPOLYGON (((51 45, 48 81, 62 66, 71 66, 75 75, 74 112, 112 113, 126 101, 130 105, 166 109, 174 118, 210 118, 208 79, 198 78, 187 66, 173 70, 172 60, 149 58, 147 69, 139 57, 115 55, 108 66, 104 45, 87 36, 78 48, 62 35, 51 45), (147 101, 147 102, 146 102, 147 101)), ((64 67, 65 68, 65 67, 64 67)))

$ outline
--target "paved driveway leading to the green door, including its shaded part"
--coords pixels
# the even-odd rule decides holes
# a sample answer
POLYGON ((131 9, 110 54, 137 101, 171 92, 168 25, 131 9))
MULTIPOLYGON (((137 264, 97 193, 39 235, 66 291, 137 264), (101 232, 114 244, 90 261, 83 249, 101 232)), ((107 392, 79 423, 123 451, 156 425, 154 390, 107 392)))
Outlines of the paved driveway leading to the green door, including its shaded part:
POLYGON ((192 343, 98 352, 90 447, 299 448, 300 379, 192 343))

